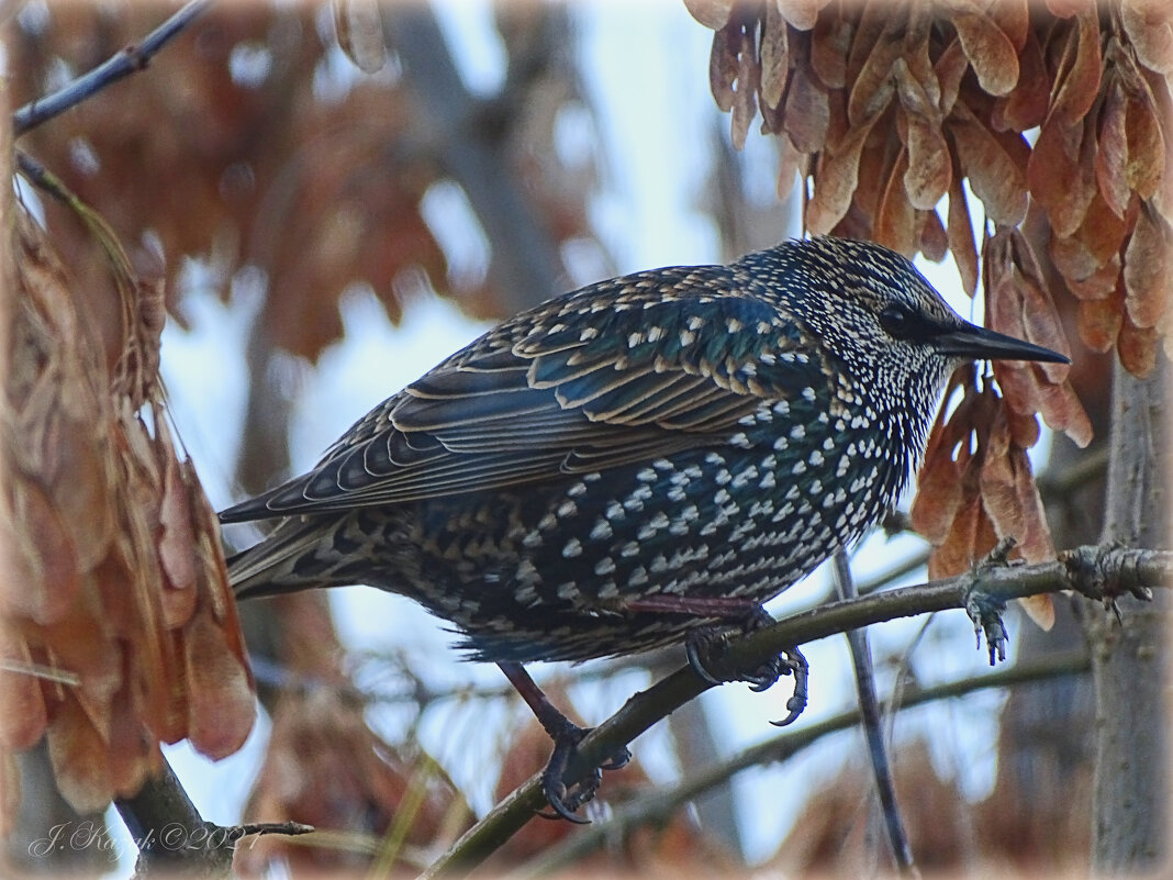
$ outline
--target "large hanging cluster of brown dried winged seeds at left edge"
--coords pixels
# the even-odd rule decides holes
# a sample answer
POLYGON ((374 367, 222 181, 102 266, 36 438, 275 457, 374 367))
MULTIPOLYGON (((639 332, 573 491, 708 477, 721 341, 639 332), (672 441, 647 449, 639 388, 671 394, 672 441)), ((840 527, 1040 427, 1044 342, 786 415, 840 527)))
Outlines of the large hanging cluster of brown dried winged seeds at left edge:
POLYGON ((215 514, 168 428, 162 287, 75 204, 104 255, 79 280, 6 202, 0 832, 19 801, 15 752, 42 737, 61 793, 88 813, 135 794, 161 742, 235 752, 256 711, 215 514), (121 330, 103 340, 100 326, 121 330))

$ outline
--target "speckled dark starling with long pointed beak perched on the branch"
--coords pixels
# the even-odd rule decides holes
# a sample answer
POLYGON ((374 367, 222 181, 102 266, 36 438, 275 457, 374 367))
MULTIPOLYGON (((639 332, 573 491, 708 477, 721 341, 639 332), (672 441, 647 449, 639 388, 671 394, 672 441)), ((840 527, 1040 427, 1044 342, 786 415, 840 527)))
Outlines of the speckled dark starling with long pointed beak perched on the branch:
MULTIPOLYGON (((550 733, 545 796, 576 819, 598 784, 563 785, 584 731, 521 664, 683 642, 707 677, 714 634, 768 622, 761 603, 893 507, 949 374, 992 358, 1066 361, 963 320, 866 242, 591 284, 490 330, 310 473, 224 510, 280 520, 230 561, 232 583, 238 597, 369 584, 448 621, 550 733)), ((744 678, 786 672, 800 690, 796 651, 744 678)))

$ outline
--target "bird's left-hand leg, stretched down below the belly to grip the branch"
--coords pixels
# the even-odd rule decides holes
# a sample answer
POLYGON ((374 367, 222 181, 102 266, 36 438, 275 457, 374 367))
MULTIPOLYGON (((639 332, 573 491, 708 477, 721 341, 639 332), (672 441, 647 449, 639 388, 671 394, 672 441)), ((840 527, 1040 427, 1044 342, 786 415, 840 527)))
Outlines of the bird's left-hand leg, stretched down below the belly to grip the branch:
POLYGON ((570 788, 567 788, 565 780, 563 779, 567 767, 570 765, 570 759, 574 757, 578 744, 583 740, 583 737, 590 733, 591 729, 579 727, 558 711, 557 706, 542 692, 542 689, 537 686, 537 683, 520 663, 497 663, 497 666, 501 668, 506 678, 509 679, 509 683, 533 710, 542 729, 554 740, 554 751, 550 753, 550 760, 545 765, 545 770, 542 771, 542 793, 554 808, 554 813, 538 813, 538 815, 547 819, 557 819, 561 817, 579 825, 588 824, 589 820, 575 815, 575 811, 595 797, 595 792, 598 791, 598 786, 603 781, 602 771, 618 770, 631 760, 631 752, 624 749, 601 766, 595 767, 588 777, 576 780, 570 788))

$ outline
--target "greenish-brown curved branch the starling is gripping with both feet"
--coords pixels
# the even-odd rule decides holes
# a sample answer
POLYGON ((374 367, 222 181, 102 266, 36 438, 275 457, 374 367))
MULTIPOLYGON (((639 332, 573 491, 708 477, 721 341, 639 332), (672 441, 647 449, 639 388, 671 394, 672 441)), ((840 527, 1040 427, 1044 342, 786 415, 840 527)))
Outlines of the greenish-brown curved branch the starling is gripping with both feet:
MULTIPOLYGON (((961 577, 918 587, 904 587, 787 617, 730 644, 712 664, 717 676, 737 669, 754 669, 786 648, 806 644, 849 629, 929 611, 964 608, 971 595, 1009 601, 1040 593, 1076 590, 1097 601, 1111 602, 1124 594, 1144 595, 1148 588, 1173 580, 1173 551, 1082 547, 1055 562, 1033 566, 983 568, 961 577)), ((618 712, 579 744, 571 773, 598 766, 670 712, 712 686, 687 666, 636 693, 618 712)), ((501 846, 542 807, 540 776, 507 796, 474 825, 436 862, 425 878, 461 876, 501 846)))

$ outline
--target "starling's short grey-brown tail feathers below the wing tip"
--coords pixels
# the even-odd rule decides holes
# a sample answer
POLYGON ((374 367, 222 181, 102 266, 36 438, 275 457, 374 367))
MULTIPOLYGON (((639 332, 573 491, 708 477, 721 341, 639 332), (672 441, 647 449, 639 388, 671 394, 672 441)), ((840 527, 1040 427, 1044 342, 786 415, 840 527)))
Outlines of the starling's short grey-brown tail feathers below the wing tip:
POLYGON ((229 582, 238 600, 332 587, 318 561, 327 532, 311 519, 283 521, 260 543, 228 560, 229 582))

